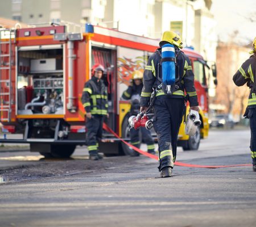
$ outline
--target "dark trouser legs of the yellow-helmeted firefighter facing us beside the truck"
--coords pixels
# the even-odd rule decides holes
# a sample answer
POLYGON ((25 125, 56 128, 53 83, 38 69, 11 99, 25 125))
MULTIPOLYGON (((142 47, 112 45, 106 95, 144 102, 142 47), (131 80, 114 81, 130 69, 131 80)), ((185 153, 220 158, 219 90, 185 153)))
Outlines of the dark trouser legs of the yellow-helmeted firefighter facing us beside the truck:
POLYGON ((142 141, 147 144, 147 152, 154 153, 155 152, 155 143, 151 136, 151 132, 144 127, 141 127, 137 130, 132 128, 130 130, 131 136, 131 144, 139 148, 141 146, 141 141, 139 140, 139 131, 141 130, 142 133, 142 141))

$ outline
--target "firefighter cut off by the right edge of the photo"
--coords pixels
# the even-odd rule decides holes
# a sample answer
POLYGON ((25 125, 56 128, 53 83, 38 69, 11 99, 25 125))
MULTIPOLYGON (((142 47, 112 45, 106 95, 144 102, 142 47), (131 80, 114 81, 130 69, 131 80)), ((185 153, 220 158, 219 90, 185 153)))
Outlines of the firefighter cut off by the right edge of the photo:
POLYGON ((256 37, 253 41, 253 55, 243 62, 240 69, 234 74, 233 81, 237 86, 243 86, 247 83, 250 88, 248 105, 245 111, 245 118, 250 119, 251 128, 251 158, 253 159, 253 171, 256 172, 256 37))

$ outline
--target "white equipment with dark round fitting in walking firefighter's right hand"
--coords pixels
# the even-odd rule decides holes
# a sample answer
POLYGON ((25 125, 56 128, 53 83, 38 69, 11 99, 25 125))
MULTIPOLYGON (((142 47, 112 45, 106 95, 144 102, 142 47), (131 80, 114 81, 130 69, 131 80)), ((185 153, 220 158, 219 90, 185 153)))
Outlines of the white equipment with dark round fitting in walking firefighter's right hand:
POLYGON ((190 110, 186 120, 185 133, 189 136, 194 136, 196 134, 197 127, 200 125, 201 120, 199 117, 199 112, 190 110))

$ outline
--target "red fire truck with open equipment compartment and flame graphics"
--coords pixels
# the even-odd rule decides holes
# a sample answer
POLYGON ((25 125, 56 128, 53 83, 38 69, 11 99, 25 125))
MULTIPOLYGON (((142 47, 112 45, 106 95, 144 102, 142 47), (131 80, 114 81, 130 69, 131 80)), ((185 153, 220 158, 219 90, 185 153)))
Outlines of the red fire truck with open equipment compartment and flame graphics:
MULTIPOLYGON (((45 157, 69 157, 85 144, 85 110, 81 103, 84 83, 94 64, 105 67, 109 118, 105 123, 129 140, 130 102, 120 100, 131 73, 146 66, 158 40, 85 24, 81 31, 54 25, 0 30, 1 143, 30 144, 31 152, 45 157), (10 133, 22 135, 11 138, 10 133)), ((194 137, 179 132, 184 150, 198 149, 208 136, 207 62, 184 49, 196 74, 195 86, 201 107, 201 128, 194 137)), ((106 156, 130 154, 127 145, 104 131, 100 151, 106 156)))

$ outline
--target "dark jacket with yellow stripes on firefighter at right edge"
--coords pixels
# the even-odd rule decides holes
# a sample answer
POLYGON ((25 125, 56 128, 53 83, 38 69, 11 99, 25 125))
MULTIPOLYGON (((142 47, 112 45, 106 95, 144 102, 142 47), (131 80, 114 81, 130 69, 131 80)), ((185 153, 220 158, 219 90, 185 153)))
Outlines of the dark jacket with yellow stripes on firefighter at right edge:
POLYGON ((233 81, 237 86, 243 86, 245 83, 250 87, 250 95, 248 99, 248 107, 256 107, 256 59, 252 55, 249 59, 243 62, 242 66, 233 76, 233 81))

